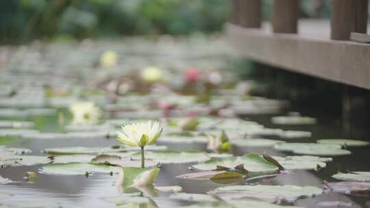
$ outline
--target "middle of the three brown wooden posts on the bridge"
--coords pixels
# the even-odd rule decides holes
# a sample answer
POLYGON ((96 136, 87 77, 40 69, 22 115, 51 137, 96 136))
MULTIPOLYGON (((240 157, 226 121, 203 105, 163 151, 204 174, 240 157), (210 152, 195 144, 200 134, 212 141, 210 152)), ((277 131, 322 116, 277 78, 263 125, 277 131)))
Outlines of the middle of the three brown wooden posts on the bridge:
POLYGON ((296 34, 299 0, 274 0, 272 25, 274 33, 296 34))

